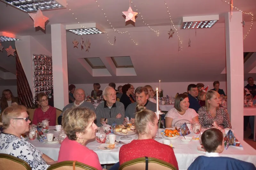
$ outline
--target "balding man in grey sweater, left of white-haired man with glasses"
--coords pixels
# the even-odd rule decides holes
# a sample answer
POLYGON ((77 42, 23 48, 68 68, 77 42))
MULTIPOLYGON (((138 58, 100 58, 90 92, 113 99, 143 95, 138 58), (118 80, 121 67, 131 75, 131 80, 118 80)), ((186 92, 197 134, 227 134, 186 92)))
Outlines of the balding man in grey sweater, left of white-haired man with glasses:
POLYGON ((60 116, 58 117, 58 124, 61 125, 63 112, 64 112, 66 109, 68 109, 68 108, 73 108, 73 107, 86 107, 86 108, 91 109, 91 110, 95 113, 95 108, 94 108, 93 104, 92 104, 92 103, 89 103, 89 102, 87 102, 87 101, 84 101, 84 99, 85 99, 85 93, 84 93, 84 90, 83 90, 83 89, 76 89, 75 92, 74 92, 74 98, 75 98, 74 103, 69 103, 67 106, 65 106, 65 107, 62 109, 62 113, 61 113, 60 116))

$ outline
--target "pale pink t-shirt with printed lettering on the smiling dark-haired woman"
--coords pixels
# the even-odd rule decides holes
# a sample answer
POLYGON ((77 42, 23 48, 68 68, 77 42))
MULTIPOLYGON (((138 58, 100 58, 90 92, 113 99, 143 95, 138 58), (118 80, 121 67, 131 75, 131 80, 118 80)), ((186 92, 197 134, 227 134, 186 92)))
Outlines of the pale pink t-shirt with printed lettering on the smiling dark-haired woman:
MULTIPOLYGON (((196 116, 198 116, 198 114, 196 113, 196 111, 194 109, 191 109, 191 108, 188 108, 188 110, 186 110, 184 115, 180 115, 176 108, 172 108, 165 115, 165 117, 170 117, 173 119, 172 127, 173 126, 181 126, 185 122, 187 124, 191 124, 192 118, 194 118, 196 116)), ((165 119, 165 117, 164 117, 164 119, 165 119)))

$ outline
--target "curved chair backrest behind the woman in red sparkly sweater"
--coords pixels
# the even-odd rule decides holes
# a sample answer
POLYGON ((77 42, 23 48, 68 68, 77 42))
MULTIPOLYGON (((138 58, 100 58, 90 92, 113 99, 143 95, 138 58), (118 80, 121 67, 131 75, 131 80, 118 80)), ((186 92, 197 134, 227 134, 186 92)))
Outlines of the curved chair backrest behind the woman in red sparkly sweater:
POLYGON ((132 170, 141 170, 141 169, 176 170, 176 167, 160 159, 142 157, 142 158, 137 158, 137 159, 127 161, 119 167, 119 170, 130 170, 130 169, 132 170))

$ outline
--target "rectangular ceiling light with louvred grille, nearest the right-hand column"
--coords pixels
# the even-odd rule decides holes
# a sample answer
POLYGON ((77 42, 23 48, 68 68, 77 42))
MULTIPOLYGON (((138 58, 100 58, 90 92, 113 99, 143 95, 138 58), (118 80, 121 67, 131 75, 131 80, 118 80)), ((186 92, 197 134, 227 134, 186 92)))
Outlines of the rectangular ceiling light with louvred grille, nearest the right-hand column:
POLYGON ((211 28, 219 20, 219 15, 183 17, 181 29, 211 28))

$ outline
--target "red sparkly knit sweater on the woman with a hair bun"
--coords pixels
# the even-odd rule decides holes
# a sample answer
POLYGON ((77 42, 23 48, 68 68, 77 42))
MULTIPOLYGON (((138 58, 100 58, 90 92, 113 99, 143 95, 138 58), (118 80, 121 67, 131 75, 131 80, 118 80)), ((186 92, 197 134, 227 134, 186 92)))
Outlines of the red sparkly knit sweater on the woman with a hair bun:
POLYGON ((172 147, 161 144, 155 139, 133 140, 123 145, 119 151, 119 163, 122 165, 129 160, 145 156, 161 159, 175 166, 177 170, 179 169, 172 147))

